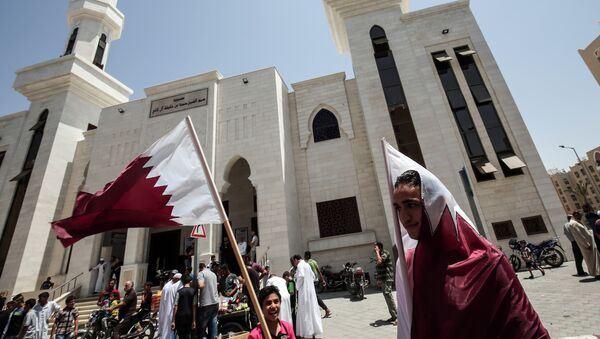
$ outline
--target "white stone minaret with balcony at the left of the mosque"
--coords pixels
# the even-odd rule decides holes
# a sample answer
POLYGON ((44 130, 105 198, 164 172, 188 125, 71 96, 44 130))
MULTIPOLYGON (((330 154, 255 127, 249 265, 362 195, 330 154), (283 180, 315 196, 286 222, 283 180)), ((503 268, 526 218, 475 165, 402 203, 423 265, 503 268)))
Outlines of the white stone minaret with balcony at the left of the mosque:
MULTIPOLYGON (((69 33, 61 56, 16 72, 14 88, 31 102, 13 155, 11 178, 0 205, 6 215, 0 238, 0 290, 34 291, 42 277, 60 275, 62 258, 50 222, 61 208, 82 132, 96 125, 102 108, 129 100, 131 89, 105 72, 123 14, 117 0, 69 0, 69 33), (56 253, 54 251, 54 253, 56 253)), ((63 48, 63 47, 61 47, 63 48)), ((58 54, 58 53, 57 53, 58 54)))

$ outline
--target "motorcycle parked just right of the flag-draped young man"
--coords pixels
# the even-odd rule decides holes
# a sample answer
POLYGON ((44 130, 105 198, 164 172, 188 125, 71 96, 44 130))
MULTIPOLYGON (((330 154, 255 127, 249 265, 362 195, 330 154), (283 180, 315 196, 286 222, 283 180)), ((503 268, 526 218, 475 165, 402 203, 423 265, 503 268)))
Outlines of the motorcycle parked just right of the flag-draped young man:
MULTIPOLYGON (((521 269, 521 246, 517 239, 510 239, 508 246, 513 250, 509 257, 510 264, 515 272, 521 269)), ((565 250, 560 246, 558 238, 544 240, 534 245, 530 242, 526 245, 533 254, 534 259, 540 264, 547 264, 552 267, 560 267, 565 262, 565 250)))

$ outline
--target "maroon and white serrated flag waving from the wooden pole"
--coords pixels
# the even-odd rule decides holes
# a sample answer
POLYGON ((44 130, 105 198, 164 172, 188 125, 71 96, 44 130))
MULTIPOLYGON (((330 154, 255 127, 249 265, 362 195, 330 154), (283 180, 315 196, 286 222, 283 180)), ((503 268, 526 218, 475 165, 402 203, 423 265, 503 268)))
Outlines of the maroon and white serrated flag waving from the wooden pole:
POLYGON ((220 199, 211 193, 212 178, 188 126, 179 123, 104 189, 79 192, 73 216, 52 222, 63 246, 120 228, 223 223, 220 199))

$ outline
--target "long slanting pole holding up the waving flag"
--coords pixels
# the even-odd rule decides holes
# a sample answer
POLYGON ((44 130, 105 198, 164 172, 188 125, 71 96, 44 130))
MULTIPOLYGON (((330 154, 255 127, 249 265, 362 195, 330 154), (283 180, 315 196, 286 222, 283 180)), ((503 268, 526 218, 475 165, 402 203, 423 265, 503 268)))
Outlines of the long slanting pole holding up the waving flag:
POLYGON ((229 220, 227 218, 227 214, 225 213, 225 209, 223 208, 223 203, 221 202, 221 197, 217 194, 217 188, 215 186, 215 182, 212 178, 210 171, 208 170, 208 164, 206 163, 206 158, 204 157, 204 151, 202 150, 202 146, 200 145, 200 141, 198 141, 198 135, 196 134, 196 129, 194 129, 194 125, 192 124, 192 119, 189 115, 185 118, 185 121, 188 125, 188 129, 190 133, 192 133, 192 140, 194 142, 194 146, 196 148, 196 153, 198 153, 198 157, 200 158, 200 164, 202 165, 202 170, 204 171, 204 176, 208 182, 208 188, 210 189, 210 193, 212 198, 217 205, 217 210, 221 216, 225 224, 225 231, 227 232, 227 237, 229 241, 232 243, 233 253, 235 255, 235 259, 240 266, 240 270, 242 271, 242 277, 245 281, 245 287, 248 289, 248 294, 250 295, 250 301, 254 305, 254 310, 256 311, 256 315, 258 316, 258 321, 260 322, 260 326, 262 328, 263 337, 265 339, 271 339, 271 333, 267 328, 267 323, 265 322, 265 317, 262 313, 262 309, 260 304, 258 303, 258 299, 256 298, 256 292, 254 291, 254 287, 252 286, 252 281, 250 280, 250 276, 248 275, 248 270, 246 269, 246 264, 242 259, 242 255, 240 254, 240 249, 237 246, 237 241, 235 241, 235 236, 233 234, 233 230, 231 229, 231 225, 229 224, 229 220))

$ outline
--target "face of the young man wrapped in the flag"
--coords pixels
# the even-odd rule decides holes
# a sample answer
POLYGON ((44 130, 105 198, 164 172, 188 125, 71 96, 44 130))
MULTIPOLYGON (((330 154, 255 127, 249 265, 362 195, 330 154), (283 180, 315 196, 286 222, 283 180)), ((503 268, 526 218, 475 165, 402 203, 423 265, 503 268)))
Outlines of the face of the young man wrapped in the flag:
POLYGON ((412 239, 419 239, 423 204, 421 203, 421 187, 400 184, 394 189, 394 207, 402 226, 412 239))

